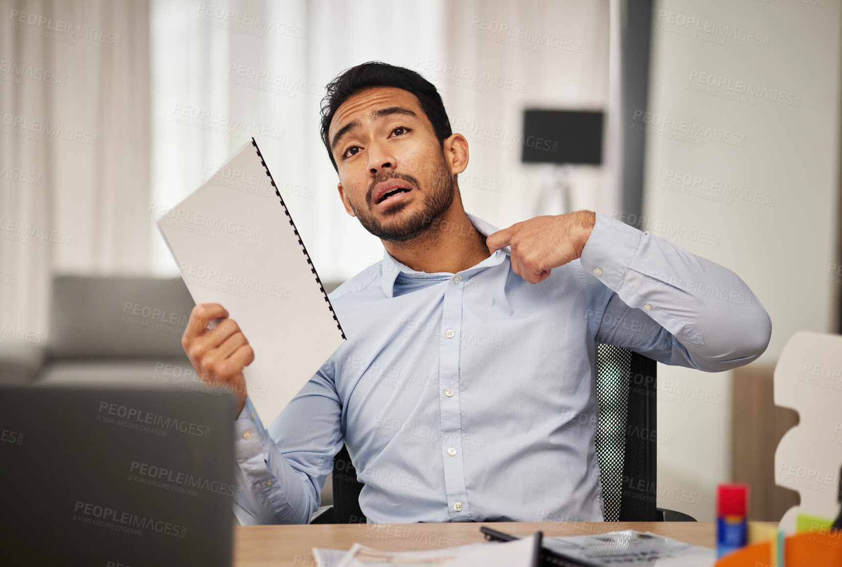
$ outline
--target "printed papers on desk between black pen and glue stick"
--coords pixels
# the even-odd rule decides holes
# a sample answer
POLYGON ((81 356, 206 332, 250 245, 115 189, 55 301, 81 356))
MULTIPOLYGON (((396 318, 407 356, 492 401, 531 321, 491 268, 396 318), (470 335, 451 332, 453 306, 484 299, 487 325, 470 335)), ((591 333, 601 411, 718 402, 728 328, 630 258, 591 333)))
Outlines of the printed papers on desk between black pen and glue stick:
POLYGON ((544 538, 543 547, 600 567, 708 567, 713 549, 634 530, 567 538, 544 538))

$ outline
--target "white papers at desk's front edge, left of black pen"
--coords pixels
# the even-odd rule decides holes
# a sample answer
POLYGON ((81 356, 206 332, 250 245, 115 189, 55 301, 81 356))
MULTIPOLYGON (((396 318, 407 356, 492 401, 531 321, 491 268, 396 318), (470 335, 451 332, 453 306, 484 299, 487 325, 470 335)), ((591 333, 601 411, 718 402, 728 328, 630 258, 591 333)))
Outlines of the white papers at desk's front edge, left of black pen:
POLYGON ((354 543, 336 567, 531 567, 534 555, 534 536, 505 543, 475 543, 458 549, 430 551, 381 551, 354 543))

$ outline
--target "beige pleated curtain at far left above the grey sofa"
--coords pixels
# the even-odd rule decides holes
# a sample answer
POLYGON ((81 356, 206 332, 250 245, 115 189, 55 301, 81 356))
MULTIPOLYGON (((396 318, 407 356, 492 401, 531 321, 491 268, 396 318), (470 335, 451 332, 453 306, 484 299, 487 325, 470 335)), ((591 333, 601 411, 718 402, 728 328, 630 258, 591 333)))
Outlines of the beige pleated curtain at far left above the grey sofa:
POLYGON ((150 194, 149 10, 144 0, 0 0, 0 14, 8 342, 49 333, 55 273, 149 270, 149 225, 136 214, 150 194))

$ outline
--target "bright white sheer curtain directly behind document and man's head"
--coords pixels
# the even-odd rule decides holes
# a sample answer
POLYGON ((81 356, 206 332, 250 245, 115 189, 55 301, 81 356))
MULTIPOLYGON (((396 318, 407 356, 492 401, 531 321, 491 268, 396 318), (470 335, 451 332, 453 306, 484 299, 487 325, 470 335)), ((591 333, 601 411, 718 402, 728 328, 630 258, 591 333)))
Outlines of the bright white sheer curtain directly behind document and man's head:
MULTIPOLYGON (((319 137, 324 85, 360 62, 411 67, 419 53, 436 53, 438 4, 215 5, 152 4, 152 211, 173 206, 254 136, 319 275, 344 280, 380 259, 382 247, 338 201, 319 137)), ((152 243, 156 271, 174 273, 157 234, 152 243)))

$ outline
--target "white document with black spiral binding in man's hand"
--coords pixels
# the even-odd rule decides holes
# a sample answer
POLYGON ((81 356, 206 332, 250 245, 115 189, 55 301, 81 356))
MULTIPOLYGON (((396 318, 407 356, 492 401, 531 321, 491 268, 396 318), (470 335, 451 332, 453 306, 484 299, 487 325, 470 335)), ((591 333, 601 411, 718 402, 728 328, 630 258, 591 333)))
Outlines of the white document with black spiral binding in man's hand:
POLYGON ((252 345, 243 375, 269 423, 345 335, 257 142, 156 223, 193 300, 221 303, 252 345))

